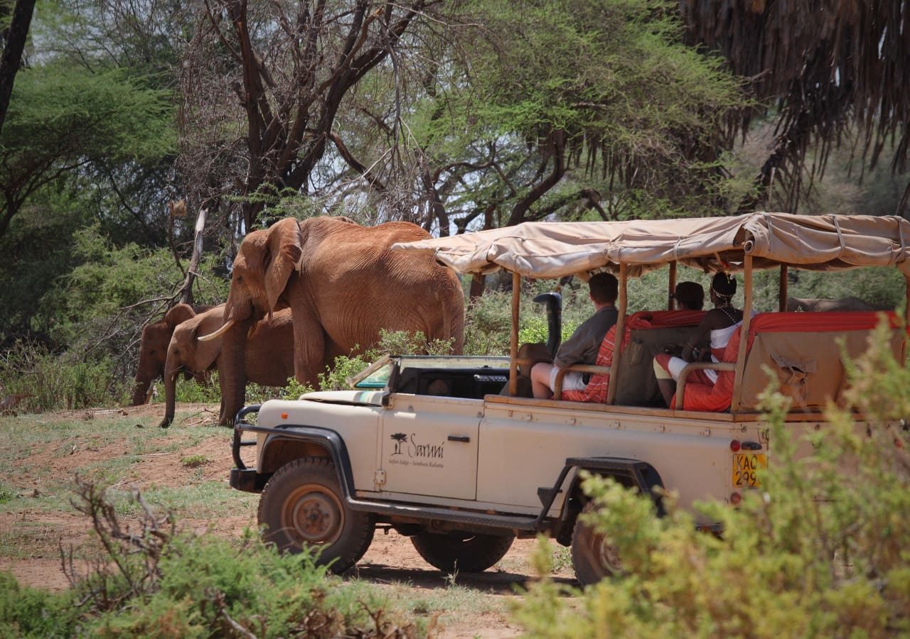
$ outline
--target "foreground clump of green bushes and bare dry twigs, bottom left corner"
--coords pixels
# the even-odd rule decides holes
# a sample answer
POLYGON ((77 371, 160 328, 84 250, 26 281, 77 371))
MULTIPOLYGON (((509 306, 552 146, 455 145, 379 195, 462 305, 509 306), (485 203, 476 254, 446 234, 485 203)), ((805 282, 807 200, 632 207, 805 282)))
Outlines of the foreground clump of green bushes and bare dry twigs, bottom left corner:
POLYGON ((143 506, 141 531, 124 532, 106 490, 79 484, 106 561, 70 574, 53 594, 0 573, 0 636, 260 637, 396 636, 415 627, 363 584, 336 587, 315 555, 280 554, 249 531, 239 544, 212 534, 175 534, 170 514, 143 506))

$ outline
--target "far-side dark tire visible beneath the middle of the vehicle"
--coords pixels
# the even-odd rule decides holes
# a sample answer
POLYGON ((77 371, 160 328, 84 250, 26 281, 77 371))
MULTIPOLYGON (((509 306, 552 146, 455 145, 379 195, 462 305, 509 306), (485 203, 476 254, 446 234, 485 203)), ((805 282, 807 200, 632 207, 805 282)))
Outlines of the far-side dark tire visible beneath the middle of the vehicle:
POLYGON ((480 573, 509 552, 515 535, 419 533, 410 541, 428 564, 443 572, 480 573))

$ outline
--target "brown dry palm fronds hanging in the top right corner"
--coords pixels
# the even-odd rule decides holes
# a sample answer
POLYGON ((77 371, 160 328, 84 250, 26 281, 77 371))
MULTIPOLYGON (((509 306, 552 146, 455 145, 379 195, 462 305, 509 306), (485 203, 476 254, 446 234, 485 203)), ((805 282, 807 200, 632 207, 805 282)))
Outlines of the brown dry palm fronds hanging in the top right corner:
MULTIPOLYGON (((891 169, 907 170, 910 155, 910 3, 906 0, 698 0, 681 2, 690 38, 718 50, 751 81, 762 105, 776 113, 773 148, 755 179, 753 210, 774 188, 788 210, 824 173, 833 146, 858 125, 859 154, 874 167, 894 145, 891 169), (818 146, 810 166, 806 153, 818 146)), ((734 125, 743 133, 755 109, 734 125)), ((910 197, 910 181, 897 207, 910 197)))

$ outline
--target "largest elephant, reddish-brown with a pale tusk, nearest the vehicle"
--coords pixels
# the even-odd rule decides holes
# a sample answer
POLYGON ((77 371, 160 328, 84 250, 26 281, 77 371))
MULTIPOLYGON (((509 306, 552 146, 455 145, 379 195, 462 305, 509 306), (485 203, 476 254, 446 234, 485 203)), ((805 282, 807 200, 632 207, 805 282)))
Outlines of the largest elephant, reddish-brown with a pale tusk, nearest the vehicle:
POLYGON ((430 235, 407 222, 361 226, 345 218, 279 220, 240 245, 227 295, 222 353, 228 415, 244 403, 244 344, 251 322, 279 305, 294 317, 294 372, 301 384, 335 354, 362 352, 379 329, 420 331, 464 344, 464 295, 457 275, 432 255, 392 251, 430 235))

